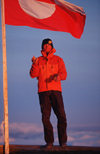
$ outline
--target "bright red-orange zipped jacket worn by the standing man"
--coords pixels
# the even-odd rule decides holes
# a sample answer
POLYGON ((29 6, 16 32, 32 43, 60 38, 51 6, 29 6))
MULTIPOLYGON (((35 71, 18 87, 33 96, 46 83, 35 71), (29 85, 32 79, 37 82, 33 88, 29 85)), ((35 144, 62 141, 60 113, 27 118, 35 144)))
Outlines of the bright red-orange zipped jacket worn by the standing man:
POLYGON ((55 52, 56 50, 53 48, 47 56, 44 51, 41 51, 42 56, 32 64, 30 76, 38 79, 38 92, 62 91, 61 80, 66 80, 67 72, 63 59, 54 55, 55 52), (60 78, 59 81, 54 80, 57 75, 60 78))

